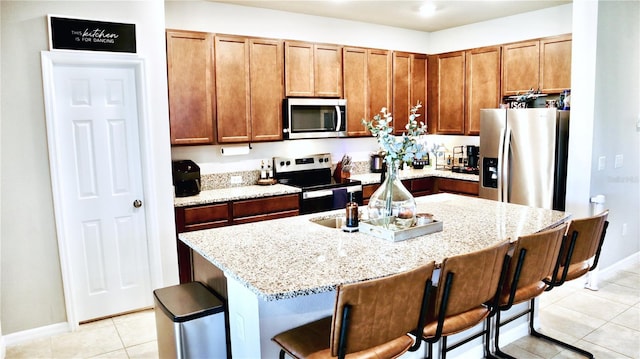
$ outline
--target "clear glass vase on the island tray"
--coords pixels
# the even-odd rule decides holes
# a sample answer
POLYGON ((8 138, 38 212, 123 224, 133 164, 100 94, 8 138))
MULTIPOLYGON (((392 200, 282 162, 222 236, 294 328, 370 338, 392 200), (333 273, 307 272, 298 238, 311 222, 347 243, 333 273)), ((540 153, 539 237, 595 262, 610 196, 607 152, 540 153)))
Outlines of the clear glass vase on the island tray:
POLYGON ((399 163, 387 162, 387 176, 369 198, 369 218, 392 230, 407 229, 416 221, 416 201, 398 178, 399 163))

